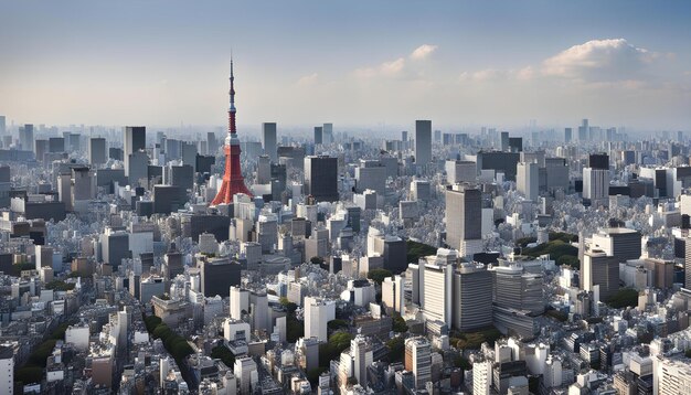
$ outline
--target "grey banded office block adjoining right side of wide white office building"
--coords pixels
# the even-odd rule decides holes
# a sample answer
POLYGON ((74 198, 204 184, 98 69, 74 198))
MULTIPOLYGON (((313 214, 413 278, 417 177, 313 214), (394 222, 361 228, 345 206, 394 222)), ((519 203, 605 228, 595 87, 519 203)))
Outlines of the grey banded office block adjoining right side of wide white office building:
POLYGON ((461 264, 456 269, 453 305, 455 329, 471 331, 491 325, 492 274, 485 265, 461 264))

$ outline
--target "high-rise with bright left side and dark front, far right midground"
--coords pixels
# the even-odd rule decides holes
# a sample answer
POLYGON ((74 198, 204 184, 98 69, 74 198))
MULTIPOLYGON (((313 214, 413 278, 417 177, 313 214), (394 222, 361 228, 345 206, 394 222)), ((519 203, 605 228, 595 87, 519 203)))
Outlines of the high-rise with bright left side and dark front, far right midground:
POLYGON ((581 267, 582 288, 596 292, 595 287, 598 286, 597 300, 605 302, 619 290, 619 261, 614 256, 602 249, 592 249, 583 254, 581 267))

